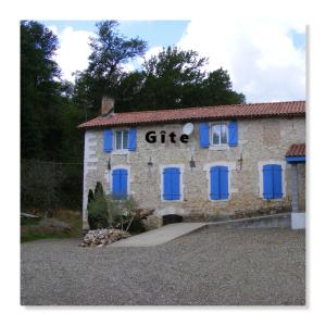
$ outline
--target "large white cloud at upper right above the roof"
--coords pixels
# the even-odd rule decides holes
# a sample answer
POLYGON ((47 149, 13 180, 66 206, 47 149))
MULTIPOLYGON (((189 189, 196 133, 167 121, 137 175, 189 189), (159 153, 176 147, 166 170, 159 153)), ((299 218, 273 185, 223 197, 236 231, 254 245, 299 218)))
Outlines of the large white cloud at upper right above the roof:
POLYGON ((209 57, 209 71, 227 70, 234 89, 243 92, 248 102, 304 99, 305 53, 294 47, 291 30, 304 33, 304 25, 243 23, 226 15, 191 21, 177 46, 209 57))

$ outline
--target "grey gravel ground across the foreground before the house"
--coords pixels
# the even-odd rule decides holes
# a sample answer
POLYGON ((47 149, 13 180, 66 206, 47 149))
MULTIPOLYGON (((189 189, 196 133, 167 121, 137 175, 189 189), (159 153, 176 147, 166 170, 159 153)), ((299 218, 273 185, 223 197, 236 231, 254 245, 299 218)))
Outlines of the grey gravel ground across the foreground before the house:
POLYGON ((78 243, 22 244, 22 304, 305 304, 303 231, 209 228, 150 248, 78 243))

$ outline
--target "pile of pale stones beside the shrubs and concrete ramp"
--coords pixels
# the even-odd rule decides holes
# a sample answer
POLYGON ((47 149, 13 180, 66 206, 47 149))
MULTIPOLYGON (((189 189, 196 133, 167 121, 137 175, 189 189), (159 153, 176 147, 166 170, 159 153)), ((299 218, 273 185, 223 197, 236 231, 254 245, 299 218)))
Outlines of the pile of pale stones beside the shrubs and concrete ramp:
POLYGON ((130 237, 130 234, 116 228, 89 230, 80 243, 82 247, 103 247, 104 244, 130 237))

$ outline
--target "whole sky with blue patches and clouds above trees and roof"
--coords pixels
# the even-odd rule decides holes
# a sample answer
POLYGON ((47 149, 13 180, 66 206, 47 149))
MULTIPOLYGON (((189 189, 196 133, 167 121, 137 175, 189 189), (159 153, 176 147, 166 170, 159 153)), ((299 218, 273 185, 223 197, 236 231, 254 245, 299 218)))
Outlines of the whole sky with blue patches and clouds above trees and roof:
MULTIPOLYGON (((63 78, 88 65, 88 40, 97 30, 95 21, 40 21, 59 38, 57 61, 63 78)), ((230 22, 227 17, 201 21, 121 21, 126 37, 148 41, 142 59, 125 65, 140 68, 145 59, 163 47, 196 50, 209 58, 208 72, 227 70, 236 91, 248 102, 302 100, 305 98, 305 26, 288 21, 230 22)))

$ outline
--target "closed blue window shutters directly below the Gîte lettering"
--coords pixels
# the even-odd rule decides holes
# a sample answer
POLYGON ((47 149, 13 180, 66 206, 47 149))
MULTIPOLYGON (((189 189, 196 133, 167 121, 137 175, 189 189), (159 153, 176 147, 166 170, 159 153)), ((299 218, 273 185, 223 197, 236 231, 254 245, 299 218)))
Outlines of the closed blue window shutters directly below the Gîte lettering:
POLYGON ((165 167, 163 170, 163 199, 180 200, 180 168, 165 167))

